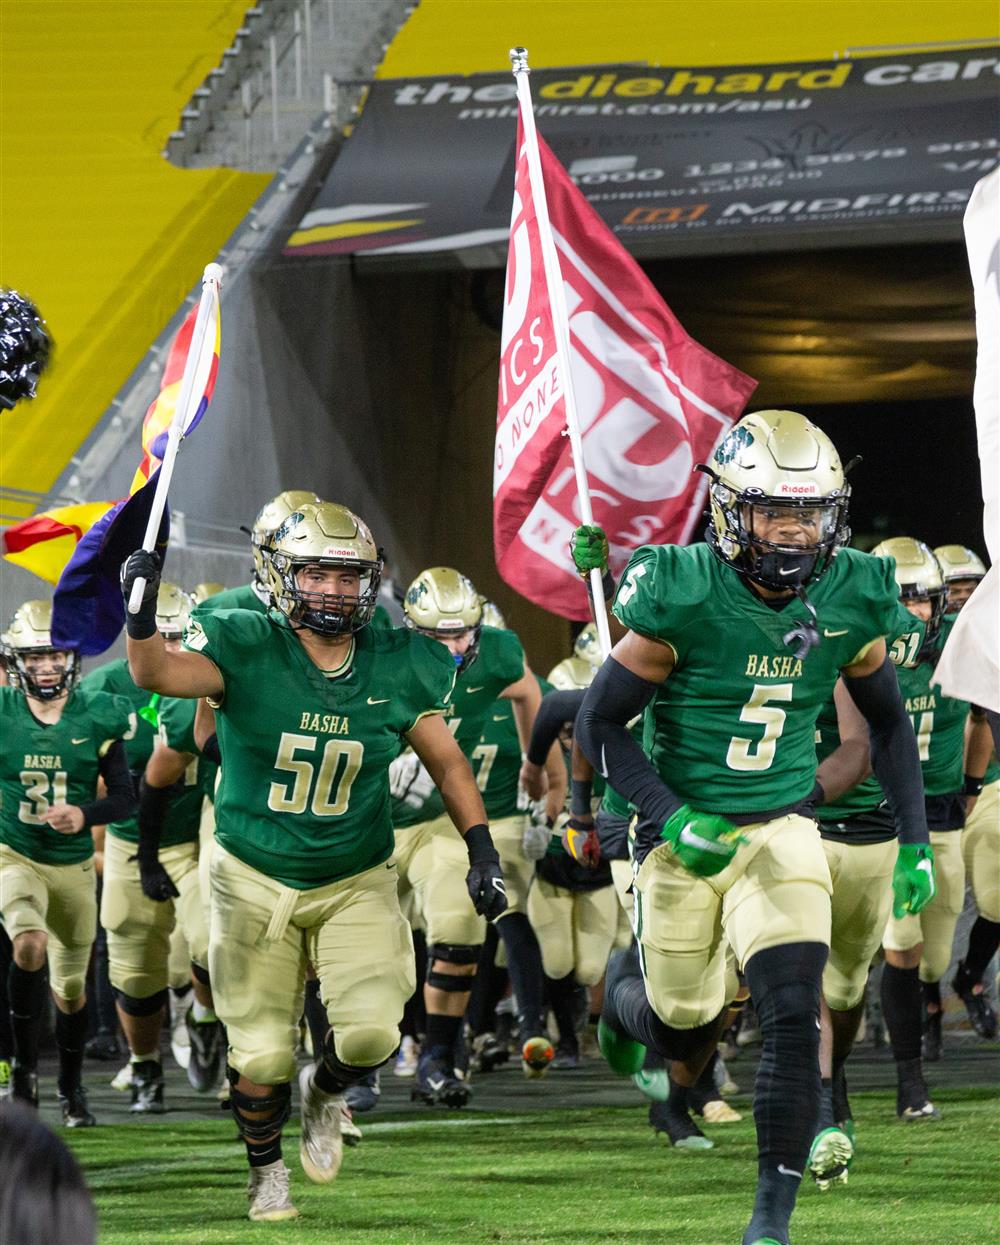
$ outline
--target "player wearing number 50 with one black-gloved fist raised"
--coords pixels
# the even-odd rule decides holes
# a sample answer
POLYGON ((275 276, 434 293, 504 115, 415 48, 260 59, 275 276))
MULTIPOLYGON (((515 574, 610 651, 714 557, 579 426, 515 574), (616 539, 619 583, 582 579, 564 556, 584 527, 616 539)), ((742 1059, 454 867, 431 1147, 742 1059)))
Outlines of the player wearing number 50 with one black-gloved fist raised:
POLYGON ((217 706, 222 779, 212 854, 209 970, 229 1038, 230 1106, 250 1163, 249 1215, 294 1218, 281 1128, 291 1108, 303 979, 311 962, 333 1030, 299 1077, 306 1175, 336 1177, 342 1094, 399 1045, 413 950, 392 860, 389 764, 408 743, 468 853, 476 909, 496 915, 503 879, 482 797, 445 723, 455 662, 402 629, 372 629, 381 558, 350 510, 294 510, 265 550, 267 615, 192 619, 182 652, 156 629, 157 558, 132 554, 127 596, 136 681, 217 706))

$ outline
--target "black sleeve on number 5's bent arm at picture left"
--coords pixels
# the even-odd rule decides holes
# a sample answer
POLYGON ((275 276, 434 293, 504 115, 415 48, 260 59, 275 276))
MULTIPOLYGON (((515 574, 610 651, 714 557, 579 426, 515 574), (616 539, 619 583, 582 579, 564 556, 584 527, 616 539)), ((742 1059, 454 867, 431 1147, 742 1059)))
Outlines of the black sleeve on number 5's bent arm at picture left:
POLYGON ((579 717, 577 738, 588 759, 644 818, 663 825, 682 806, 628 731, 653 700, 656 685, 608 657, 594 676, 579 717))

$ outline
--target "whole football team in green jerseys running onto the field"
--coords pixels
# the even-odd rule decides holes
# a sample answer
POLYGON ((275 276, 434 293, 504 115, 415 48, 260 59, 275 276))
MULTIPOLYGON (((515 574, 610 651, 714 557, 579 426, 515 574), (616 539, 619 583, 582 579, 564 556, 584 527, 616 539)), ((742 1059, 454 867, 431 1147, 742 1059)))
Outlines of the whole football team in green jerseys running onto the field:
POLYGON ((742 1243, 788 1245, 804 1173, 828 1189, 854 1159, 846 1064, 879 952, 898 1117, 936 1119, 924 1063, 966 881, 951 985, 996 1036, 1000 766, 988 715, 933 682, 985 568, 909 537, 852 549, 844 469, 796 412, 743 417, 702 469, 704 543, 638 549, 615 584, 604 533, 577 530, 614 647, 590 625, 548 680, 451 568, 417 575, 394 626, 364 522, 301 491, 258 515, 252 583, 197 605, 134 553, 127 660, 82 680, 51 606, 21 605, 0 687, 0 1089, 37 1104, 51 991, 64 1123, 96 1123, 100 883, 116 1083, 163 1111, 172 1016, 192 1086, 228 1097, 254 1220, 298 1214, 294 1079, 303 1172, 329 1183, 394 1057, 415 1098, 462 1107, 513 1032, 527 1077, 577 1067, 588 1013, 655 1130, 710 1150, 701 1123, 740 1118, 717 1052, 750 997, 742 1243))

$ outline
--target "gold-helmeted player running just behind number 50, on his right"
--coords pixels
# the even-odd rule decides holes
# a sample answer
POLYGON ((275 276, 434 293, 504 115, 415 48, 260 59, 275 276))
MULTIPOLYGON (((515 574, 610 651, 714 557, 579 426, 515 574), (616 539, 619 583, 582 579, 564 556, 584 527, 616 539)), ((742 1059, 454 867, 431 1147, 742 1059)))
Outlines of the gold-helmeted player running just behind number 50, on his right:
MULTIPOLYGON (((451 566, 432 566, 407 588, 403 613, 408 629, 438 641, 450 655, 456 687, 446 721, 463 754, 474 753, 486 717, 498 698, 511 701, 521 746, 526 748, 542 700, 538 681, 514 632, 482 625, 482 598, 471 581, 451 566)), ((427 1031, 413 1096, 428 1106, 462 1107, 468 1102, 469 1091, 456 1076, 455 1051, 486 939, 486 921, 468 901, 462 881, 462 855, 440 794, 431 791, 426 798, 415 799, 412 782, 410 789, 405 782, 400 783, 400 772, 406 773, 407 764, 412 781, 420 782, 421 774, 418 768, 412 768, 412 759, 401 757, 397 762, 399 798, 392 819, 401 893, 412 899, 427 934, 428 965, 423 987, 427 1031)), ((533 799, 540 798, 544 774, 532 774, 526 789, 533 799)), ((491 919, 501 916, 506 908, 504 895, 503 903, 489 914, 491 919)), ((504 945, 508 939, 517 937, 519 928, 516 916, 512 925, 502 923, 498 926, 504 945)), ((516 962, 521 961, 523 950, 516 950, 516 962)), ((542 1016, 531 1017, 531 1032, 522 1033, 526 1058, 537 1051, 540 1061, 545 1050, 550 1050, 547 1040, 529 1046, 542 1036, 537 1027, 542 1021, 542 1016)))

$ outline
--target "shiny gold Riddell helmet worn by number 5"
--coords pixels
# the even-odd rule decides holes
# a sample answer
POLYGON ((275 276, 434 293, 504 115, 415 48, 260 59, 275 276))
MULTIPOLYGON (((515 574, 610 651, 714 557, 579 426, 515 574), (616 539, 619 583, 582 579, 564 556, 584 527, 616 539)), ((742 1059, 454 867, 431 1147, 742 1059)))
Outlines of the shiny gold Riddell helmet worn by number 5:
POLYGON ((851 539, 839 456, 797 411, 745 415, 700 469, 712 481, 709 545, 755 584, 804 588, 851 539))

